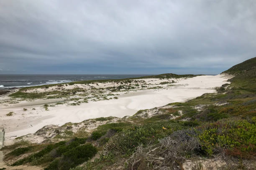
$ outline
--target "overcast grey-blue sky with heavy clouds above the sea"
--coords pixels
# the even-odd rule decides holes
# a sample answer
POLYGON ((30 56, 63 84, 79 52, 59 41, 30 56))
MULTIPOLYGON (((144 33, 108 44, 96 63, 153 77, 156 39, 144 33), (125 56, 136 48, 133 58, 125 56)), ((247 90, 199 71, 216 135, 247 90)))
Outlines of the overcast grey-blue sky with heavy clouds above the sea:
POLYGON ((0 0, 0 74, 218 74, 256 57, 255 0, 0 0))

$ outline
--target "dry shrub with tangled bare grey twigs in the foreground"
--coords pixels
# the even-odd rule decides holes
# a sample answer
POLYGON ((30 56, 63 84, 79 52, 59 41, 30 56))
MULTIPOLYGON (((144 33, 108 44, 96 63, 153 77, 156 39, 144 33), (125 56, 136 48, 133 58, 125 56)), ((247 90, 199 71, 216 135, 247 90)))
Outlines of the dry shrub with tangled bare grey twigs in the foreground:
POLYGON ((201 145, 194 130, 178 130, 172 135, 160 139, 156 145, 142 145, 126 161, 129 170, 159 169, 171 170, 181 166, 186 157, 195 155, 201 145))

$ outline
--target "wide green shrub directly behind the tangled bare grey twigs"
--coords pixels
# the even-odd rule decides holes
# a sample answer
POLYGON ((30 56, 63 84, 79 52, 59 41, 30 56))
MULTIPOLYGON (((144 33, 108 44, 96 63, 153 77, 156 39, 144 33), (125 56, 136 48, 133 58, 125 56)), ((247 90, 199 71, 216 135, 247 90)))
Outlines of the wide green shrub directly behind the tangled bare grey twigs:
POLYGON ((130 155, 138 145, 158 143, 159 138, 164 138, 176 130, 181 130, 182 125, 172 120, 146 123, 141 126, 124 129, 110 138, 106 149, 112 153, 130 155))

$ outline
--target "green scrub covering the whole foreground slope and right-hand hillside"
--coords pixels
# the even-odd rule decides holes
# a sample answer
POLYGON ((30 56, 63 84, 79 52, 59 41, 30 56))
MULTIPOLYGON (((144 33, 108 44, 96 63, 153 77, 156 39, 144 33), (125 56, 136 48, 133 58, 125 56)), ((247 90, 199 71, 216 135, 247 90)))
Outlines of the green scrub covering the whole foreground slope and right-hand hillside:
MULTIPOLYGON (((192 162, 192 168, 202 169, 206 166, 203 158, 218 158, 225 162, 218 167, 223 170, 230 167, 255 169, 256 58, 223 73, 234 77, 229 80, 230 84, 218 87, 216 93, 206 93, 187 102, 139 110, 131 117, 99 117, 81 123, 67 123, 57 127, 59 131, 54 131, 57 139, 64 141, 49 138, 48 143, 28 146, 21 140, 20 144, 3 147, 2 150, 9 152, 6 158, 15 160, 12 166, 40 165, 45 170, 171 170, 184 169, 183 163, 187 160, 192 162), (85 131, 91 125, 97 126, 85 131), (67 133, 69 135, 64 135, 67 133), (75 138, 78 134, 79 138, 75 138), (96 153, 99 156, 89 160, 96 153), (21 159, 20 155, 23 155, 21 159), (80 166, 81 163, 83 165, 80 166)), ((171 76, 182 75, 146 77, 171 76)), ((189 76, 194 75, 184 75, 189 76)), ((124 83, 124 80, 113 81, 124 83)), ((44 130, 46 133, 47 128, 44 130)))

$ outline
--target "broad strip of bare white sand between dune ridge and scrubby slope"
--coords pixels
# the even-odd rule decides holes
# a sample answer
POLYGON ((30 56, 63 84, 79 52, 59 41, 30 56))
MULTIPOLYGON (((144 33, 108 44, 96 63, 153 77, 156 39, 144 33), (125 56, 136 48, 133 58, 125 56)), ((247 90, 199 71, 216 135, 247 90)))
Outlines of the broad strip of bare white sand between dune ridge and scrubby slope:
POLYGON ((179 80, 177 86, 158 90, 143 90, 119 95, 118 100, 100 100, 97 102, 82 103, 79 106, 58 105, 50 107, 49 111, 40 107, 47 100, 28 102, 15 107, 1 107, 0 126, 4 126, 5 136, 8 140, 11 136, 21 136, 35 133, 44 125, 63 125, 66 122, 81 122, 96 117, 133 115, 138 110, 160 107, 171 102, 184 102, 207 92, 215 92, 215 87, 228 83, 230 77, 223 75, 197 76, 179 80), (28 106, 24 112, 23 107, 28 106), (36 110, 31 110, 35 107, 36 110), (15 115, 8 117, 6 113, 13 111, 15 115))

